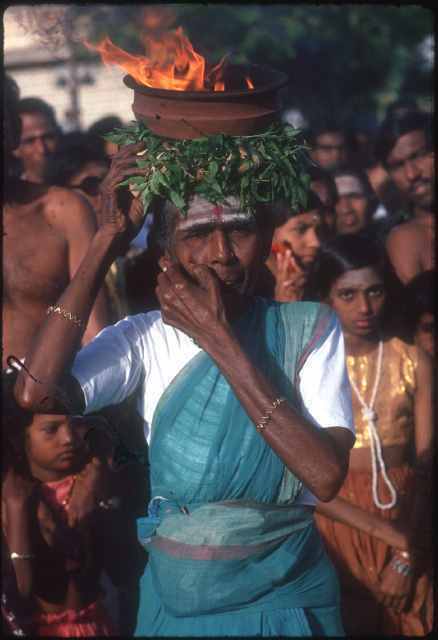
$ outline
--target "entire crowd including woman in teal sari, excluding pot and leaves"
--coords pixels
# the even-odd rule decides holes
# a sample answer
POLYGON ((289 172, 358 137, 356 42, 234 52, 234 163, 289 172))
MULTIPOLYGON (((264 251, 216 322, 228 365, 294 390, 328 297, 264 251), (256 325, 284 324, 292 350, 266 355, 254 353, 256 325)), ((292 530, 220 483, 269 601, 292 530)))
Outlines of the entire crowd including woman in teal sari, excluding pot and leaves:
POLYGON ((123 124, 5 77, 4 633, 430 633, 430 115, 315 123, 252 217, 145 215, 123 124))

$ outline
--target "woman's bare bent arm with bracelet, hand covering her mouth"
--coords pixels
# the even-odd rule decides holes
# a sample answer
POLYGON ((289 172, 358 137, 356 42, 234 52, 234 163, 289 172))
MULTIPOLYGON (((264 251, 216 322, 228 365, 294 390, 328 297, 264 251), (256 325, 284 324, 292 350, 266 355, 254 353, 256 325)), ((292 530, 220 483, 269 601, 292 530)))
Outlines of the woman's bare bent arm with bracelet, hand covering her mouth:
MULTIPOLYGON (((157 295, 164 322, 193 337, 211 355, 251 420, 258 424, 280 393, 236 339, 225 316, 217 278, 206 267, 194 267, 193 274, 202 283, 196 286, 177 266, 165 260, 162 264, 166 271, 158 276, 157 295)), ((344 481, 354 442, 348 429, 336 427, 327 433, 283 402, 260 437, 318 499, 327 501, 344 481)))

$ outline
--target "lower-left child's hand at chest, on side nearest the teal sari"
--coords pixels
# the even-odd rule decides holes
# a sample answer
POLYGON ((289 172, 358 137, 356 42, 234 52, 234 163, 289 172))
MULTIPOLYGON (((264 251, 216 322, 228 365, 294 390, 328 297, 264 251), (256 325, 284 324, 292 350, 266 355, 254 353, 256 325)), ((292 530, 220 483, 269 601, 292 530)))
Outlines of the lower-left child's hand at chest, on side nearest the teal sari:
POLYGON ((94 457, 78 474, 67 507, 68 524, 75 527, 99 506, 107 486, 107 469, 94 457))

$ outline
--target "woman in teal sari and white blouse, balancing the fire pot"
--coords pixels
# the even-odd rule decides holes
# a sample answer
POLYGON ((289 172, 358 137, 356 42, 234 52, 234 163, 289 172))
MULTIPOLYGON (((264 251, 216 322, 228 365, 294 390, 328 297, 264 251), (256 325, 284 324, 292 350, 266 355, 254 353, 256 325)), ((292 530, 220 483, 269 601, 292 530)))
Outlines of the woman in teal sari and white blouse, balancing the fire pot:
POLYGON ((166 202, 156 213, 161 312, 106 328, 66 376, 95 292, 141 223, 138 200, 125 213, 115 198, 141 148, 113 159, 101 226, 26 359, 32 378, 20 373, 17 399, 56 411, 58 385, 89 412, 140 391, 152 500, 139 523, 150 561, 136 634, 342 634, 312 520, 315 497, 342 485, 354 442, 342 334, 324 305, 252 296, 271 246, 267 211, 195 195, 184 217, 166 202))

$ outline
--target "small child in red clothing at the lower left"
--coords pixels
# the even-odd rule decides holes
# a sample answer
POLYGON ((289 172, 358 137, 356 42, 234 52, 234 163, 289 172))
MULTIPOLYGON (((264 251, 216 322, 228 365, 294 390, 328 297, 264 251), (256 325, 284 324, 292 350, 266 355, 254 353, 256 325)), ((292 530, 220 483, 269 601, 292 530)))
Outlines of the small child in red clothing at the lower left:
POLYGON ((99 589, 109 556, 102 544, 105 462, 89 452, 89 421, 26 412, 8 386, 2 533, 3 568, 10 579, 3 622, 14 635, 20 629, 35 636, 115 635, 99 589), (11 588, 17 599, 12 608, 11 588), (23 604, 27 623, 17 616, 23 604))

